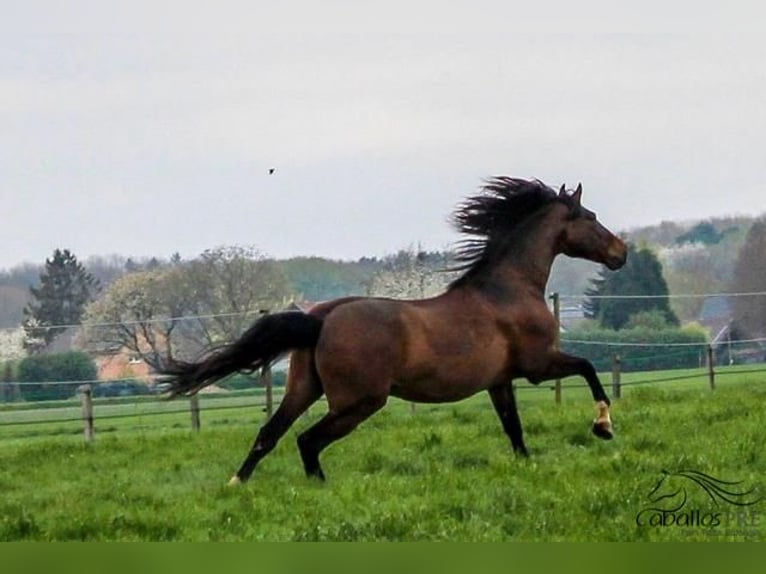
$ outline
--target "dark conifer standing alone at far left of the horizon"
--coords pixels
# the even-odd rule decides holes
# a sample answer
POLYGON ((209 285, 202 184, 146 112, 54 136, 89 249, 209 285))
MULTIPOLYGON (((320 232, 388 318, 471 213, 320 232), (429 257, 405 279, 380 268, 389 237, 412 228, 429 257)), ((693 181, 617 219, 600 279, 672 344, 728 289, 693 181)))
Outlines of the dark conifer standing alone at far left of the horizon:
POLYGON ((37 287, 30 287, 32 301, 24 308, 24 346, 38 352, 80 322, 85 305, 99 291, 99 282, 68 249, 56 249, 45 260, 37 287))

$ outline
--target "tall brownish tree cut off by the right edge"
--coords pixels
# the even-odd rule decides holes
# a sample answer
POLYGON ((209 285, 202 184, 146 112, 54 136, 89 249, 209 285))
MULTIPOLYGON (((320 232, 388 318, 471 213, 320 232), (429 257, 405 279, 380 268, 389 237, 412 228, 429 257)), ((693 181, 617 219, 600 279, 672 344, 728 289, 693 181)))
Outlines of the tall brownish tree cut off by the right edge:
MULTIPOLYGON (((766 218, 753 223, 747 234, 737 257, 731 290, 736 293, 766 291, 766 218)), ((766 296, 736 297, 734 319, 749 335, 766 334, 766 296)))

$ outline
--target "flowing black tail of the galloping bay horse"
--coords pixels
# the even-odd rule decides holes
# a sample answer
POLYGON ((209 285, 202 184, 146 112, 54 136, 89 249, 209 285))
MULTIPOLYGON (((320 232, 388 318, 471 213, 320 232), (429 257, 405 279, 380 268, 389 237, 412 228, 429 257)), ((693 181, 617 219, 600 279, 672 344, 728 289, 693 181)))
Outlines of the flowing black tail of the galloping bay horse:
POLYGON ((298 311, 266 315, 228 345, 212 350, 196 363, 171 361, 160 371, 167 375, 170 396, 193 395, 237 371, 255 371, 293 349, 314 347, 322 319, 298 311))

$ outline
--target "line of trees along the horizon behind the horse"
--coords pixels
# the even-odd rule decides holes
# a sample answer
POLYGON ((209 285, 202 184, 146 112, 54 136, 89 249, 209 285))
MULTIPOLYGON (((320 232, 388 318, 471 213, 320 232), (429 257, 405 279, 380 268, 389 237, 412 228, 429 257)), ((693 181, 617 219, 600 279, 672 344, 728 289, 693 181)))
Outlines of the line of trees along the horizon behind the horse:
MULTIPOLYGON (((628 263, 620 271, 591 267, 596 273, 582 289, 589 325, 612 331, 679 328, 689 316, 668 297, 673 283, 663 266, 668 250, 676 258, 683 259, 679 253, 687 252, 699 258, 735 241, 739 249, 728 262, 729 281, 697 287, 766 291, 766 221, 756 220, 746 233, 735 225, 717 228, 701 223, 659 248, 631 243, 628 263), (610 295, 653 297, 609 299, 610 295)), ((559 261, 570 270, 581 263, 559 261)), ((22 310, 24 346, 30 354, 43 353, 67 325, 83 323, 86 326, 76 333, 76 348, 94 353, 125 350, 156 369, 168 358, 190 358, 229 341, 258 313, 280 310, 293 301, 434 295, 454 278, 450 267, 448 252, 419 248, 382 259, 338 262, 318 257, 275 261, 253 247, 225 246, 190 260, 178 254, 167 260, 127 260, 120 273, 105 275, 102 269, 99 278, 71 251, 57 249, 29 287, 22 310)), ((677 278, 683 266, 676 261, 673 269, 671 277, 677 278)), ((766 298, 739 298, 734 312, 743 336, 766 334, 766 298)))

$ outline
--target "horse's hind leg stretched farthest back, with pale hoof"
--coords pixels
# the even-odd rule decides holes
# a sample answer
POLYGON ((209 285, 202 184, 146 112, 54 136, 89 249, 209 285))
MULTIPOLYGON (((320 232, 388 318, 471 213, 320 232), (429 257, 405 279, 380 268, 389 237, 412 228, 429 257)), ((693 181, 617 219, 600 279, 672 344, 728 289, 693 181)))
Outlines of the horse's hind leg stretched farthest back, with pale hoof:
POLYGON ((311 353, 294 352, 285 396, 274 415, 258 431, 250 452, 229 484, 236 485, 247 481, 261 459, 274 449, 287 429, 322 396, 322 392, 319 378, 313 372, 311 353))

